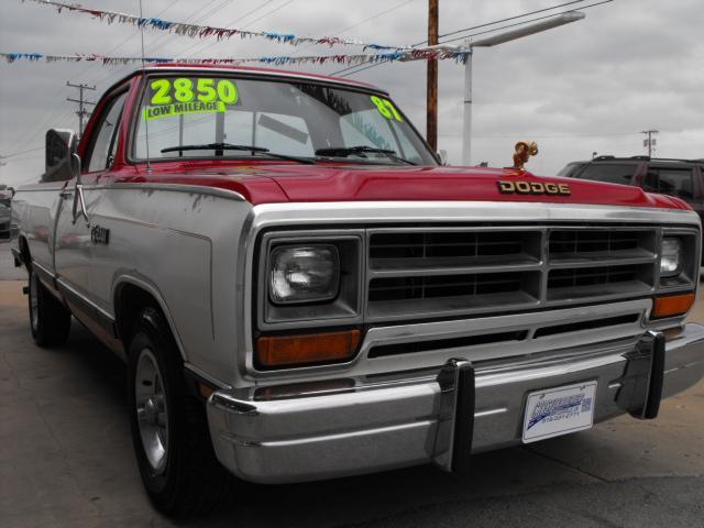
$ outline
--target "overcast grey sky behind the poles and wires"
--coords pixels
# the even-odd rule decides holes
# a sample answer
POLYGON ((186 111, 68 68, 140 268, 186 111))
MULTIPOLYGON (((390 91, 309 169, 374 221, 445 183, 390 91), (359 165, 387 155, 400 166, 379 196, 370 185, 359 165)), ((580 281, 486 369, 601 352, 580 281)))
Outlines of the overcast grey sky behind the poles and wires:
MULTIPOLYGON (((493 22, 566 0, 440 0, 440 33, 493 22)), ((582 2, 582 6, 597 0, 582 2)), ((139 13, 138 0, 82 0, 84 7, 139 13)), ((580 4, 574 8, 579 9, 580 4)), ((139 32, 52 8, 2 0, 0 52, 139 56, 139 32)), ((427 0, 144 0, 144 15, 217 26, 339 35, 388 44, 427 37, 427 0), (350 9, 353 7, 354 9, 350 9)), ((566 8, 565 8, 566 9, 566 8)), ((513 145, 537 141, 536 174, 600 154, 645 154, 640 131, 657 129, 657 155, 704 157, 704 38, 702 0, 615 0, 584 11, 580 22, 474 55, 472 161, 510 164, 513 145)), ((479 30, 477 30, 479 31, 479 30)), ((145 30, 147 56, 249 57, 361 53, 339 46, 293 47, 262 40, 193 40, 145 30)), ((36 180, 43 170, 44 132, 78 129, 77 90, 66 81, 102 91, 134 66, 90 63, 0 64, 0 183, 36 180)), ((292 69, 292 67, 289 67, 292 69)), ((295 67, 294 67, 295 69, 295 67)), ((341 66, 301 66, 331 74, 341 66)), ((352 78, 388 89, 425 131, 424 63, 394 63, 352 78)), ((461 157, 464 70, 440 66, 439 148, 451 163, 461 157)))

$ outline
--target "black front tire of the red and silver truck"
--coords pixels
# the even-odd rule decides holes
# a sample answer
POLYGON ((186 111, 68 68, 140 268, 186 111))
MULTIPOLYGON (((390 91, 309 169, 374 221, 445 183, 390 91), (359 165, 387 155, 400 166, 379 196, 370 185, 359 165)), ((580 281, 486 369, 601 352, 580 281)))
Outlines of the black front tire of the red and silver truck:
MULTIPOLYGON (((216 459, 204 403, 187 389, 178 348, 164 317, 154 308, 144 309, 138 318, 129 346, 128 371, 132 440, 142 482, 150 499, 160 512, 170 517, 183 518, 210 512, 230 492, 233 477, 216 459), (140 388, 140 384, 152 386, 146 383, 148 376, 142 372, 144 367, 140 366, 141 362, 147 366, 155 362, 158 376, 158 383, 154 377, 153 384, 154 391, 158 393, 155 397, 165 400, 161 407, 165 410, 165 417, 161 414, 160 416, 167 429, 158 438, 163 440, 165 437, 167 441, 158 468, 150 462, 142 435, 145 427, 163 428, 163 425, 155 426, 150 424, 148 418, 144 418, 147 416, 147 406, 151 416, 154 417, 154 409, 158 413, 161 404, 144 402, 143 394, 139 396, 142 402, 138 402, 135 388, 140 388), (142 429, 138 418, 140 413, 143 416, 142 429)), ((158 422, 160 419, 156 418, 155 421, 158 422)), ((154 460, 153 451, 150 453, 154 460)))

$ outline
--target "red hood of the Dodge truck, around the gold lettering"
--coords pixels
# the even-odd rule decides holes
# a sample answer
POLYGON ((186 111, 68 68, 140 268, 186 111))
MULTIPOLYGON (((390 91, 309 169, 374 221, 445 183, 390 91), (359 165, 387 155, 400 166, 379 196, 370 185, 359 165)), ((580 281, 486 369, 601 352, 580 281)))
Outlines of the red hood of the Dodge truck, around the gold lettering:
POLYGON ((206 185, 242 194, 253 205, 285 201, 536 201, 690 209, 678 198, 638 187, 483 167, 407 167, 253 163, 154 165, 147 177, 120 178, 206 185), (568 184, 570 196, 502 194, 498 180, 568 184))

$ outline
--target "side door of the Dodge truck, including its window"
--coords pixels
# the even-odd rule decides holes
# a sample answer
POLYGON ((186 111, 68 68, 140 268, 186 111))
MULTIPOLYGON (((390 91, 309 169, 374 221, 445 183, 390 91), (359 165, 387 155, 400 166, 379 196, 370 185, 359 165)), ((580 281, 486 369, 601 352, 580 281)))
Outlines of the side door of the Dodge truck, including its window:
MULTIPOLYGON (((91 222, 100 201, 100 176, 112 165, 127 91, 101 105, 82 161, 82 174, 62 191, 56 227, 55 267, 58 287, 74 314, 88 326, 97 319, 91 282, 94 244, 100 243, 91 222)), ((98 233, 99 235, 100 233, 98 233)))

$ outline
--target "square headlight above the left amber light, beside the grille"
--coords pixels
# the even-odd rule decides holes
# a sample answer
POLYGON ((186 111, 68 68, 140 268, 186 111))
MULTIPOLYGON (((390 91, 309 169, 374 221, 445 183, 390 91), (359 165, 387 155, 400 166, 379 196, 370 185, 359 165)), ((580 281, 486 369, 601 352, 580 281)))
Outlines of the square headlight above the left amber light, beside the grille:
POLYGON ((331 244, 282 245, 271 255, 270 297, 278 305, 334 299, 340 256, 331 244))

